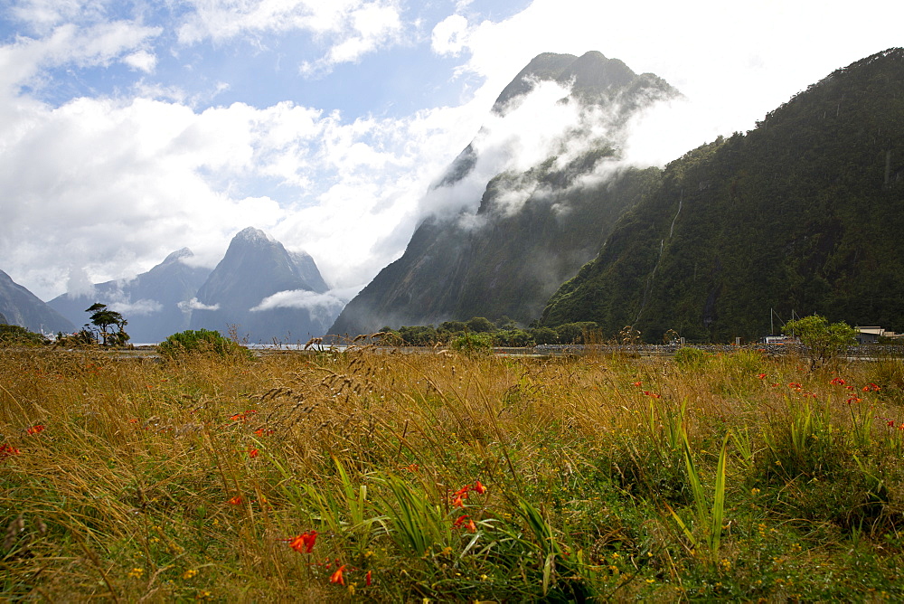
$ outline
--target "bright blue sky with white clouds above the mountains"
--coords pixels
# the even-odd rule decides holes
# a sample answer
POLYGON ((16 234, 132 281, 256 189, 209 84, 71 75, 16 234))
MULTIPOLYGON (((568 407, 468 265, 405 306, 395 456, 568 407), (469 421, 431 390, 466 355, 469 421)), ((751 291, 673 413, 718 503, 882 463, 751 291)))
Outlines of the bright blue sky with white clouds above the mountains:
POLYGON ((631 139, 632 161, 664 165, 904 44, 902 17, 884 0, 5 0, 0 269, 48 300, 183 247, 213 267, 254 226, 347 300, 537 54, 598 51, 681 90, 631 139))

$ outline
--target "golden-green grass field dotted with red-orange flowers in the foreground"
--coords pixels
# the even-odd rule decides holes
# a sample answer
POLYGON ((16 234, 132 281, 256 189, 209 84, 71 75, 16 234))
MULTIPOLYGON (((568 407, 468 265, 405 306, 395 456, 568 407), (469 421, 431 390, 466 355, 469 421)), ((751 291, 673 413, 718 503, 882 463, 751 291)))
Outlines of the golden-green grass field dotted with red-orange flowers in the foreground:
POLYGON ((0 598, 904 599, 904 363, 0 349, 0 598))

